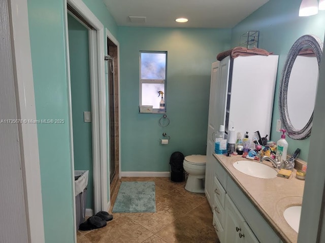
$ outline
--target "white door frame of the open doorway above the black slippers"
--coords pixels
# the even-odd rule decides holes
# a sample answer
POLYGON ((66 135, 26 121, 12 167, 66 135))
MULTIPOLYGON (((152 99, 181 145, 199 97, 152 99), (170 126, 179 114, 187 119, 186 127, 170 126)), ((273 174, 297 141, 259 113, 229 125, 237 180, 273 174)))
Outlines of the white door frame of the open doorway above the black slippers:
MULTIPOLYGON (((107 200, 107 146, 106 146, 106 94, 105 94, 105 62, 104 62, 104 25, 88 9, 82 0, 64 0, 66 16, 67 42, 67 78, 69 87, 70 140, 73 148, 71 80, 68 39, 67 4, 71 5, 94 30, 89 30, 89 66, 91 96, 91 127, 92 127, 92 163, 94 187, 94 213, 108 210, 107 200)), ((74 178, 74 155, 71 151, 72 177, 74 178)), ((74 183, 73 183, 74 186, 74 183)), ((75 193, 75 187, 73 187, 75 193)), ((75 210, 74 201, 74 210, 75 210)))

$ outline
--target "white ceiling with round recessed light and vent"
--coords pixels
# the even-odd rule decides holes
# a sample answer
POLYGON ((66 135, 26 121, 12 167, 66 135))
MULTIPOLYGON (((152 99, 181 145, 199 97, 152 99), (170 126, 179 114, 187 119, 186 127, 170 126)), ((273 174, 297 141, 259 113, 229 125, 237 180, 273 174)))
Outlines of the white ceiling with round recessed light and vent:
POLYGON ((269 0, 103 0, 118 26, 232 28, 269 0), (146 17, 132 23, 128 16, 146 17), (186 17, 187 23, 176 18, 186 17))

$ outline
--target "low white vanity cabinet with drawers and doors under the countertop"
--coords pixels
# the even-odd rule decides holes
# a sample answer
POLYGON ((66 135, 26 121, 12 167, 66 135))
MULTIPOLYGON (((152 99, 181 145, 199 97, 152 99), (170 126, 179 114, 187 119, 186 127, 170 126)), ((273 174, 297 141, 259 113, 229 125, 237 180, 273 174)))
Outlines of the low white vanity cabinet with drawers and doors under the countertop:
POLYGON ((216 159, 213 168, 212 224, 220 242, 282 242, 216 159))

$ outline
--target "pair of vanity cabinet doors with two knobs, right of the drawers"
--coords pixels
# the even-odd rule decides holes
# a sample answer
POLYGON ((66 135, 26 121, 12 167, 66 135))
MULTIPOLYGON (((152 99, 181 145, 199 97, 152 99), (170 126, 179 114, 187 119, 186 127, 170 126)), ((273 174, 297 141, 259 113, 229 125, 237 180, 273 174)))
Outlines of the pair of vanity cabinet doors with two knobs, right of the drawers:
POLYGON ((241 242, 241 243, 258 243, 254 233, 245 222, 232 199, 228 194, 225 196, 225 242, 241 242))

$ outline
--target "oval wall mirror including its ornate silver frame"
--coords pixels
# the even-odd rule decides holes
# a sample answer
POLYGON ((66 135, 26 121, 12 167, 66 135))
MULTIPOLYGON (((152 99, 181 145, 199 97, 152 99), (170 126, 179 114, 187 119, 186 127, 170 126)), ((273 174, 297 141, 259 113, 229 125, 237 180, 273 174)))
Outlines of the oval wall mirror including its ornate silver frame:
POLYGON ((322 44, 314 35, 301 36, 291 47, 282 71, 279 110, 290 138, 310 136, 322 44))

